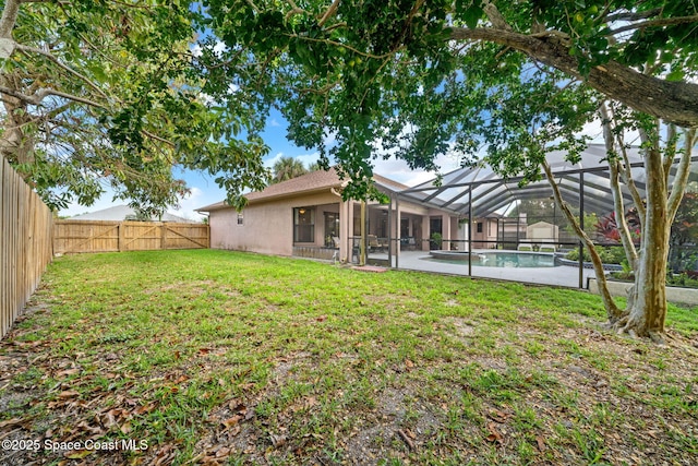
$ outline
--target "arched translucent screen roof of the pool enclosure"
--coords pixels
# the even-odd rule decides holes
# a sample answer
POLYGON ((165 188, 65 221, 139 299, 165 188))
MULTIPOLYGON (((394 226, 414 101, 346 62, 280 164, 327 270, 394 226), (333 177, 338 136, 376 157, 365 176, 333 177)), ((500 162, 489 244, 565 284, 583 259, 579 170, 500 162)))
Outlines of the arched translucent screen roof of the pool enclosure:
MULTIPOLYGON (((639 147, 627 150, 629 167, 635 186, 645 198, 646 175, 643 159, 639 147)), ((578 215, 582 227, 589 231, 591 225, 583 225, 585 216, 595 214, 597 218, 609 216, 614 211, 613 194, 611 191, 611 175, 606 159, 604 144, 590 144, 581 153, 578 163, 571 164, 565 159, 564 151, 553 151, 546 154, 547 164, 559 188, 563 200, 570 205, 573 212, 578 215)), ((698 157, 691 158, 689 183, 698 182, 698 157)), ((670 183, 676 172, 676 164, 670 171, 670 183)), ((400 191, 396 194, 399 200, 421 204, 452 213, 459 218, 470 222, 468 228, 468 241, 473 235, 472 220, 482 218, 497 218, 497 227, 502 228, 502 235, 497 235, 495 244, 488 248, 503 248, 503 246, 518 246, 526 243, 521 238, 519 228, 516 228, 516 238, 504 235, 506 224, 520 222, 518 216, 512 215, 514 210, 527 201, 547 202, 553 206, 552 218, 547 223, 555 225, 554 241, 561 249, 579 247, 579 240, 568 227, 566 218, 561 212, 555 211, 552 201, 553 190, 544 175, 539 181, 529 182, 519 187, 522 177, 503 178, 489 166, 464 167, 444 175, 441 179, 433 179, 422 184, 400 191), (508 244, 504 244, 507 243, 508 244)), ((671 184, 670 184, 671 186, 671 184)), ((622 182, 626 212, 634 206, 633 196, 627 187, 622 182)), ((600 241, 601 243, 603 241, 600 241)), ((696 241, 698 242, 698 241, 696 241)), ((504 248, 509 249, 509 248, 504 248)), ((513 248, 517 249, 517 248, 513 248)), ((581 255, 581 254, 579 254, 581 255)), ((582 266, 581 259, 579 262, 582 266)), ((582 274, 579 273, 579 287, 583 287, 582 274)))

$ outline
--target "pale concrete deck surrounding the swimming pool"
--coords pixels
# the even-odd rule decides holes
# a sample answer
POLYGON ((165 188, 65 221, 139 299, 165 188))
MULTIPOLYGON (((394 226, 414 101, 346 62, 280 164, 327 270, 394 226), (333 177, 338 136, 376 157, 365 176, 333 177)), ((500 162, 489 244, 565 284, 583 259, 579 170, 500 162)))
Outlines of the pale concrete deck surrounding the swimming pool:
MULTIPOLYGON (((488 250, 473 250, 473 252, 488 252, 488 250)), ((371 263, 371 260, 383 260, 387 262, 387 254, 372 253, 369 255, 368 262, 371 263)), ((432 259, 429 251, 400 251, 397 264, 396 258, 393 256, 393 267, 398 270, 433 272, 450 275, 468 275, 467 260, 462 261, 462 264, 438 261, 437 259, 432 259)), ((582 274, 582 283, 586 287, 587 277, 594 276, 593 270, 585 268, 582 274)), ((472 276, 531 283, 537 285, 555 285, 579 288, 579 268, 568 265, 561 265, 557 267, 488 267, 473 265, 472 276)))

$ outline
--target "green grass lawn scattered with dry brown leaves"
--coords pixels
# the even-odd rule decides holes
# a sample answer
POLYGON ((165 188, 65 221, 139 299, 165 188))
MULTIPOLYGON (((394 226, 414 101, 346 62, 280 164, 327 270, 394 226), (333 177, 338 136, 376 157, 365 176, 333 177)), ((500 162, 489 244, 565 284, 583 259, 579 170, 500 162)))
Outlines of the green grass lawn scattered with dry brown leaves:
POLYGON ((0 438, 39 447, 0 464, 698 458, 697 309, 658 347, 581 291, 214 250, 59 258, 31 308, 0 438), (45 447, 88 440, 144 447, 45 447))

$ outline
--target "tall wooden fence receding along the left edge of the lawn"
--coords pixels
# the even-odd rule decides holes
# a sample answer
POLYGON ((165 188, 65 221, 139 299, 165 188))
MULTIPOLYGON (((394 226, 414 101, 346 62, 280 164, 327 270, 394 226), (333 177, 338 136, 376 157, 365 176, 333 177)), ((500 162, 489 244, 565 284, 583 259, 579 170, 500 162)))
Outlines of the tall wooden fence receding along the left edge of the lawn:
POLYGON ((53 256, 53 215, 10 167, 0 162, 0 338, 36 289, 53 256))

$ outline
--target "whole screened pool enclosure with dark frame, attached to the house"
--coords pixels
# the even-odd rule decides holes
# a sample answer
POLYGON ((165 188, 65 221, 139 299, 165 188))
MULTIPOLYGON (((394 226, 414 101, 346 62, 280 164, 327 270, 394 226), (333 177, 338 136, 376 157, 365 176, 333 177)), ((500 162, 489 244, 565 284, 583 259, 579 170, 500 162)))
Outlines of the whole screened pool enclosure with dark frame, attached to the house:
MULTIPOLYGON (((638 148, 628 150, 627 155, 635 186, 643 198, 642 157, 638 148)), ((605 157, 604 145, 591 144, 577 164, 566 162, 563 152, 551 152, 546 159, 563 199, 587 235, 601 247, 604 268, 618 271, 624 267, 625 254, 615 227, 605 157)), ((691 222, 698 224, 698 194, 694 194, 698 191, 698 164, 695 162, 691 160, 684 198, 688 205, 677 214, 670 252, 670 267, 690 275, 698 274, 695 272, 698 237, 691 228, 691 222)), ((674 174, 672 170, 670 179, 674 174)), ((587 278, 593 277, 591 264, 585 260, 579 239, 555 204, 549 181, 544 175, 526 186, 520 186, 520 181, 521 178, 503 179, 488 166, 468 167, 452 171, 441 180, 394 192, 388 205, 369 205, 364 219, 366 262, 586 288, 587 278), (402 205, 419 205, 423 210, 406 212, 402 205)), ((621 184, 626 220, 639 243, 641 231, 634 198, 627 187, 621 184)), ((360 238, 354 230, 354 261, 360 238)))

